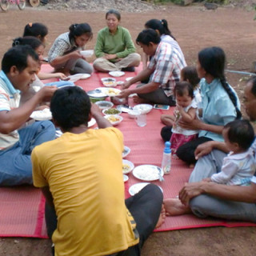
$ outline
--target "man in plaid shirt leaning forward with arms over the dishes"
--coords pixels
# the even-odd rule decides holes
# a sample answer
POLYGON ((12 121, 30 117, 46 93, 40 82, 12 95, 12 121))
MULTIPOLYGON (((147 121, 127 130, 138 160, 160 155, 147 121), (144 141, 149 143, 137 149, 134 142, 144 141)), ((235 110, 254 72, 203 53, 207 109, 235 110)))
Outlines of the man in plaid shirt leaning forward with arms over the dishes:
POLYGON ((138 34, 136 42, 142 47, 145 54, 153 56, 146 70, 130 79, 122 86, 119 98, 126 98, 130 94, 138 94, 136 102, 151 102, 175 106, 173 89, 179 81, 181 70, 186 66, 184 58, 178 50, 166 42, 161 42, 155 30, 143 30, 138 34), (150 77, 147 84, 128 89, 135 82, 150 77))

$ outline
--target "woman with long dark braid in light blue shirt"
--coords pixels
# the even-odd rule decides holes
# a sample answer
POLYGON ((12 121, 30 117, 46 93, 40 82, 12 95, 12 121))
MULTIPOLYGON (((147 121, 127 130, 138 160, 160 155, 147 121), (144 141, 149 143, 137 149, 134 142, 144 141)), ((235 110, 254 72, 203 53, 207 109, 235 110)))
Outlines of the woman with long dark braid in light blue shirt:
POLYGON ((241 118, 240 102, 234 89, 226 82, 224 67, 226 56, 219 47, 209 47, 198 54, 198 77, 202 95, 201 119, 193 122, 180 122, 182 128, 200 130, 198 138, 180 146, 178 158, 194 164, 194 150, 203 142, 210 140, 223 142, 222 130, 226 123, 241 118))

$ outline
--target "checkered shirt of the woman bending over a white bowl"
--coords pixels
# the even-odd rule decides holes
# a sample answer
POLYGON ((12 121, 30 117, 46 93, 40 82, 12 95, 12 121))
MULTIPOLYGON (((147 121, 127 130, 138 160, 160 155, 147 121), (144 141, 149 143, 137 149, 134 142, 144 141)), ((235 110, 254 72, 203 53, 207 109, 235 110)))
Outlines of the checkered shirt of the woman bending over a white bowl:
POLYGON ((66 32, 56 38, 48 53, 49 62, 52 62, 58 56, 63 56, 74 50, 84 50, 84 47, 76 46, 74 40, 70 42, 69 34, 69 32, 66 32))

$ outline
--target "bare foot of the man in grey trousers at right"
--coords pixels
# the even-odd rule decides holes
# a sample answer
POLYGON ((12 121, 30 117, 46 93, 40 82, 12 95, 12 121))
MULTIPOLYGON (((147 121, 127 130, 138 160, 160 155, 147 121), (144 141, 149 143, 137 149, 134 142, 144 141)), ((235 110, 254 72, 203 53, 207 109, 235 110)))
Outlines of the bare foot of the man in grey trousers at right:
POLYGON ((190 214, 189 206, 184 206, 178 198, 168 198, 163 200, 166 209, 166 216, 176 216, 182 214, 190 214))

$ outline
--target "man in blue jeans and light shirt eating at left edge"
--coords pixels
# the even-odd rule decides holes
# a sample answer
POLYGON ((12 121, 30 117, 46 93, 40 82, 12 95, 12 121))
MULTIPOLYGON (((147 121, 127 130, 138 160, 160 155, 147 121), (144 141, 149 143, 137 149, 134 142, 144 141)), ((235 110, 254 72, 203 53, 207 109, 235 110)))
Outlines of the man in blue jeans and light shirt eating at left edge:
POLYGON ((4 54, 0 72, 0 186, 32 183, 30 154, 34 146, 55 138, 52 122, 24 126, 41 102, 49 101, 55 86, 39 90, 22 106, 20 93, 30 88, 38 71, 38 54, 30 46, 16 46, 4 54))

